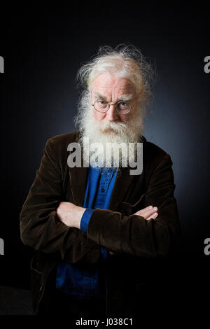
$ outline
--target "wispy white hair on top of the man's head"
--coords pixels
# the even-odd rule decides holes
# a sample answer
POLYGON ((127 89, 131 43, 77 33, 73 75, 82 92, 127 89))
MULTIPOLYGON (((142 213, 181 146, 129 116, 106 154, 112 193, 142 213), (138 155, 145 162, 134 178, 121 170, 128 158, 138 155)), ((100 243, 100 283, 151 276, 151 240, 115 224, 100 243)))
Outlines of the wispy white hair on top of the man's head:
POLYGON ((91 89, 94 79, 103 72, 130 80, 136 88, 137 96, 141 98, 141 104, 148 105, 155 75, 151 64, 146 62, 141 51, 134 45, 100 47, 97 56, 78 70, 78 85, 91 89))

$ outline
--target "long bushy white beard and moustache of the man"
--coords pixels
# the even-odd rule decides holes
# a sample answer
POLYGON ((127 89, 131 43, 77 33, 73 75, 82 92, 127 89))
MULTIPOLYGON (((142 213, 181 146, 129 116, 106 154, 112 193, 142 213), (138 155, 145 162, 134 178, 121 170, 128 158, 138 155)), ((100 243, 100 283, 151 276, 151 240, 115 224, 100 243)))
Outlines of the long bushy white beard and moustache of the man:
MULTIPOLYGON (((102 147, 97 149, 97 159, 91 163, 94 167, 107 167, 107 156, 111 159, 111 166, 113 167, 127 167, 123 164, 129 163, 129 144, 137 144, 141 139, 141 132, 143 131, 143 118, 141 113, 134 113, 127 123, 109 122, 106 119, 97 121, 94 118, 94 109, 90 105, 90 98, 88 94, 83 95, 80 100, 78 116, 75 118, 76 124, 79 126, 82 134, 80 135, 80 146, 83 151, 83 157, 91 158, 93 151, 90 148, 83 148, 83 142, 88 139, 89 144, 99 143, 102 147), (113 151, 110 146, 112 144, 113 151), (114 147, 114 144, 121 144, 120 152, 114 147), (122 144, 123 143, 123 144, 122 144), (106 150, 108 152, 106 152, 106 150), (116 151, 115 151, 116 150, 116 151), (116 152, 119 155, 119 162, 116 165, 116 152)), ((137 147, 135 147, 134 157, 137 156, 137 147)), ((108 167, 111 167, 110 165, 108 167)))

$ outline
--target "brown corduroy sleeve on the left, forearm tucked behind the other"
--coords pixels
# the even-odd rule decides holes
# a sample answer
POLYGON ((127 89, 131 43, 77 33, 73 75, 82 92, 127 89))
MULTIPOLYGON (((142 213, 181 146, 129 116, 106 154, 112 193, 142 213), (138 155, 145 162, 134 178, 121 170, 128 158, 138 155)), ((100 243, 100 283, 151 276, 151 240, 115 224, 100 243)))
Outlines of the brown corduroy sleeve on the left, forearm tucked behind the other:
POLYGON ((85 232, 69 228, 57 217, 56 209, 64 199, 61 164, 54 144, 52 139, 46 142, 41 165, 22 206, 20 237, 25 245, 56 253, 65 262, 98 262, 100 247, 85 232))

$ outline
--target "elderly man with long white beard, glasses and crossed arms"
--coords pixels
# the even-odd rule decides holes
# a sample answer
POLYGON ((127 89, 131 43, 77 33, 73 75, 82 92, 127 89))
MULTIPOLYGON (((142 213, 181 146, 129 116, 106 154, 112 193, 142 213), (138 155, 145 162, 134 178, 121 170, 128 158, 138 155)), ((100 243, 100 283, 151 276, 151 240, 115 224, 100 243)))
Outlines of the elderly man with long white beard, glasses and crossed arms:
MULTIPOLYGON (((151 72, 137 48, 122 45, 100 48, 78 71, 85 87, 78 131, 48 139, 20 214, 21 239, 37 251, 31 260, 37 314, 137 314, 147 284, 144 261, 172 251, 179 235, 172 160, 142 135, 151 72), (95 158, 87 140, 102 146, 95 158), (118 164, 116 152, 109 153, 113 144, 123 145, 118 164), (130 144, 143 146, 138 174, 131 174, 125 152, 130 144), (77 145, 81 159, 92 162, 73 165, 77 145)), ((138 165, 137 148, 133 159, 138 165)))

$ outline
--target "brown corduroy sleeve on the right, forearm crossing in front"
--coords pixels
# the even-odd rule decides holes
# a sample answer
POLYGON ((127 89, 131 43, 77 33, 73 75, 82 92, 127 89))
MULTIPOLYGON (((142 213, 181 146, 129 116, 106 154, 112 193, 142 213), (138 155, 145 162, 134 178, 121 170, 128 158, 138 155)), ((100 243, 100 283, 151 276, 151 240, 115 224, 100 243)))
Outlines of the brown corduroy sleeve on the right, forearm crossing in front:
POLYGON ((150 175, 145 195, 144 207, 158 207, 158 217, 147 221, 134 214, 94 209, 87 237, 114 253, 167 256, 180 231, 174 188, 172 160, 167 154, 150 175))

